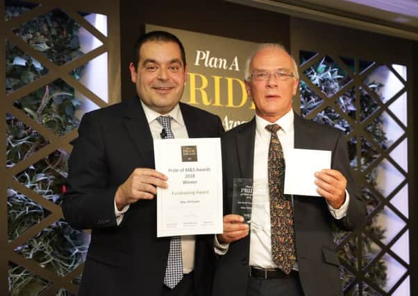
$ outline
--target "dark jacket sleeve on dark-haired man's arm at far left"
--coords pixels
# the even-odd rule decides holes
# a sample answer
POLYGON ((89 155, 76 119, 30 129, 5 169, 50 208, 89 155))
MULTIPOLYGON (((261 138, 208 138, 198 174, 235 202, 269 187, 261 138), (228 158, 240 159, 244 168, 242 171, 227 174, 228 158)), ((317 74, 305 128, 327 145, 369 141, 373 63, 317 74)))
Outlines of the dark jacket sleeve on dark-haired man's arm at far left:
POLYGON ((69 157, 67 192, 62 213, 74 229, 117 226, 114 198, 117 186, 108 187, 103 130, 97 116, 85 114, 69 157))

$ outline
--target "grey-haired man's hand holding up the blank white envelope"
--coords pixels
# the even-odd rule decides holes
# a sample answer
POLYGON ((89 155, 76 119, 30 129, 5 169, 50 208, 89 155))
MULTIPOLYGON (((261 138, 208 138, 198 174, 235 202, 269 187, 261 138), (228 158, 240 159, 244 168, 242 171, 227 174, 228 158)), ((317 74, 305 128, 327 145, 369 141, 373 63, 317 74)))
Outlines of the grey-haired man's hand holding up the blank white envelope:
POLYGON ((322 195, 334 209, 340 209, 345 201, 347 180, 340 171, 324 169, 315 173, 317 192, 322 195))

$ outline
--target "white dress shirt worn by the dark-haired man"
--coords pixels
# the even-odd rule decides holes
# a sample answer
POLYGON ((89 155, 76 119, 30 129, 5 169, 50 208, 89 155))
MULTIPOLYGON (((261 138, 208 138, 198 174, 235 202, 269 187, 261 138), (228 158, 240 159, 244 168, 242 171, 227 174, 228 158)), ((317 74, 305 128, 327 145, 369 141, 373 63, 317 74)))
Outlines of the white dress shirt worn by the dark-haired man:
MULTIPOLYGON (((156 119, 158 118, 158 116, 161 116, 162 114, 159 114, 158 112, 152 110, 147 105, 145 105, 142 101, 141 101, 141 105, 144 108, 145 116, 147 116, 149 129, 151 130, 151 135, 153 139, 161 139, 160 133, 162 131, 162 125, 160 125, 160 123, 158 123, 156 119)), ((187 129, 183 121, 183 115, 181 114, 180 106, 177 104, 173 108, 172 111, 170 111, 168 114, 164 114, 164 116, 168 116, 168 115, 172 116, 173 118, 171 128, 174 134, 174 138, 177 138, 177 139, 188 138, 189 135, 187 134, 187 129)), ((115 201, 115 216, 116 216, 117 225, 119 225, 122 222, 122 219, 124 218, 124 213, 128 211, 128 209, 129 209, 129 205, 124 207, 122 211, 118 211, 116 207, 116 201, 115 201)), ((194 249, 196 245, 195 243, 196 242, 195 242, 194 236, 181 236, 181 252, 183 254, 183 272, 184 273, 192 272, 192 270, 194 269, 194 249)))

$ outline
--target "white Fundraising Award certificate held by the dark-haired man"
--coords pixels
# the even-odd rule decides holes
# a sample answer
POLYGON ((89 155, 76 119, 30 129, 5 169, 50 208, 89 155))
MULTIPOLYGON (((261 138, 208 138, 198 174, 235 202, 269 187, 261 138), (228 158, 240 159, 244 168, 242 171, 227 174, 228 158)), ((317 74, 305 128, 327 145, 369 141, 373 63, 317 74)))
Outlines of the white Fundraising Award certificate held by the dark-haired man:
POLYGON ((168 177, 157 189, 157 236, 221 233, 220 139, 154 140, 154 155, 168 177))

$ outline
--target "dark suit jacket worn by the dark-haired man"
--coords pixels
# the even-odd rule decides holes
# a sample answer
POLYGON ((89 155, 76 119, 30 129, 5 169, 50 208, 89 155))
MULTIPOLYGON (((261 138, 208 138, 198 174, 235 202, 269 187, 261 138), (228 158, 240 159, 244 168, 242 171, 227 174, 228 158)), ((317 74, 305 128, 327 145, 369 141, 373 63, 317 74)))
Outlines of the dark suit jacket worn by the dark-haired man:
MULTIPOLYGON (((219 137, 218 116, 180 103, 190 138, 219 137)), ((79 295, 159 296, 170 238, 157 238, 156 198, 131 204, 121 225, 115 192, 135 168, 154 168, 153 139, 138 98, 83 116, 69 159, 62 211, 75 229, 92 229, 79 295)), ((213 236, 197 236, 196 295, 212 285, 213 236)))

